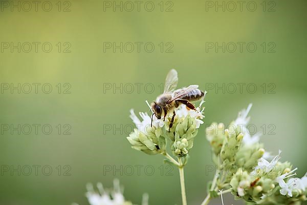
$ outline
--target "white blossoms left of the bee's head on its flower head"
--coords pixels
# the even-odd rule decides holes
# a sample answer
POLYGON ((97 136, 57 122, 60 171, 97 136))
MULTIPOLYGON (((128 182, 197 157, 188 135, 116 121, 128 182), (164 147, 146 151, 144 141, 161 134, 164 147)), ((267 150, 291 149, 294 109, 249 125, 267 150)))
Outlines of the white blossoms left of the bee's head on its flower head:
MULTIPOLYGON (((138 131, 142 133, 146 133, 146 128, 151 126, 151 118, 147 113, 140 112, 140 116, 142 117, 142 121, 137 117, 134 110, 130 110, 130 118, 133 120, 134 124, 137 126, 138 131)), ((164 122, 161 119, 157 119, 155 115, 152 116, 152 126, 156 128, 163 127, 164 122)))

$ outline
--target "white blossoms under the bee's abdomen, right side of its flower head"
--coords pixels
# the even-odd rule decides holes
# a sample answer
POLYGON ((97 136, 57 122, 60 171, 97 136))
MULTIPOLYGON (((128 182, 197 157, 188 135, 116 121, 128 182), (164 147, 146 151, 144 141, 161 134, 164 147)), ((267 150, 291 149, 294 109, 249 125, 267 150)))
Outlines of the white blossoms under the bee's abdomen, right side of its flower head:
MULTIPOLYGON (((205 92, 206 95, 207 92, 205 92)), ((179 108, 176 110, 176 115, 180 118, 185 118, 188 115, 196 120, 196 128, 199 128, 201 124, 204 124, 204 121, 201 120, 205 116, 203 115, 204 109, 202 108, 202 105, 204 103, 204 98, 202 99, 199 107, 196 108, 196 110, 188 109, 185 105, 180 105, 179 108)))

